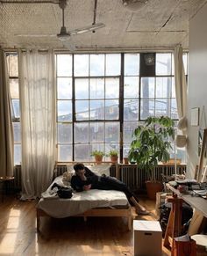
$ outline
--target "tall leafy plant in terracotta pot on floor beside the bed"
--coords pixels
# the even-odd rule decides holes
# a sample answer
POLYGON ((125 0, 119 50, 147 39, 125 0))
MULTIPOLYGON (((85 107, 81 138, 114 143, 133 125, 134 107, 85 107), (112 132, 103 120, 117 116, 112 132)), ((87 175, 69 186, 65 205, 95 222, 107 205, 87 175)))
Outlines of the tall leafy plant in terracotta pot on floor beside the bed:
POLYGON ((168 116, 148 117, 144 125, 139 125, 132 133, 129 159, 146 170, 149 179, 146 181, 146 192, 151 199, 155 199, 156 192, 162 188, 162 184, 155 179, 155 167, 159 162, 168 162, 174 138, 174 121, 168 116))

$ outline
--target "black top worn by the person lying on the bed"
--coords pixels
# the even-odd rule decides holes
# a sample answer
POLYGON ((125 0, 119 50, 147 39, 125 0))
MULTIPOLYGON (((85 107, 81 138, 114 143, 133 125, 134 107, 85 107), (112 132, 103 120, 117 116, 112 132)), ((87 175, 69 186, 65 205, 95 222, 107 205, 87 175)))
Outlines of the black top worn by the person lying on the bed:
POLYGON ((77 192, 82 191, 82 187, 84 185, 91 184, 91 189, 96 188, 96 185, 98 183, 99 176, 96 175, 94 172, 90 171, 87 167, 85 167, 84 169, 86 180, 82 180, 78 175, 73 175, 71 179, 71 187, 73 187, 73 189, 77 192))

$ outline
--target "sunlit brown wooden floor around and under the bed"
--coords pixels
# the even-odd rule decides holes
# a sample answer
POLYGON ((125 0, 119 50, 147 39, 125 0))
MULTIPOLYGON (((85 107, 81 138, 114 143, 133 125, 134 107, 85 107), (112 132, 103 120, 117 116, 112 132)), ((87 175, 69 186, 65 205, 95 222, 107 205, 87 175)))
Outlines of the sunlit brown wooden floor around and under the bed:
MULTIPOLYGON (((153 216, 136 219, 156 220, 154 201, 141 200, 153 216)), ((133 255, 133 232, 127 230, 122 217, 81 217, 53 219, 40 222, 41 234, 36 231, 36 202, 18 201, 6 196, 0 202, 0 255, 133 255)), ((170 255, 163 247, 162 255, 170 255)))

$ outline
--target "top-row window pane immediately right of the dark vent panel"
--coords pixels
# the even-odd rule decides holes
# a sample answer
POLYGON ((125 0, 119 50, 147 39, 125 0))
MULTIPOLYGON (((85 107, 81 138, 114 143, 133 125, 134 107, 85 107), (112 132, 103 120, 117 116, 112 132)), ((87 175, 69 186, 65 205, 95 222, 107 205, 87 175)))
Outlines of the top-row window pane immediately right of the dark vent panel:
POLYGON ((171 75, 171 54, 156 54, 156 76, 171 75))

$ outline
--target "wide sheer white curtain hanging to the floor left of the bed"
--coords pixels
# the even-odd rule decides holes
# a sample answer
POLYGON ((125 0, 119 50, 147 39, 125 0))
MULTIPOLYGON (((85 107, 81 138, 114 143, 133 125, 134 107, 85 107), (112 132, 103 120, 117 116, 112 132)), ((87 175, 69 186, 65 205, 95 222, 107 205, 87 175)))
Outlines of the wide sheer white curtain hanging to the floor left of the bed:
POLYGON ((19 51, 22 199, 46 190, 55 161, 55 86, 52 51, 19 51))

